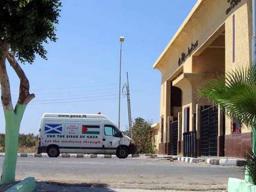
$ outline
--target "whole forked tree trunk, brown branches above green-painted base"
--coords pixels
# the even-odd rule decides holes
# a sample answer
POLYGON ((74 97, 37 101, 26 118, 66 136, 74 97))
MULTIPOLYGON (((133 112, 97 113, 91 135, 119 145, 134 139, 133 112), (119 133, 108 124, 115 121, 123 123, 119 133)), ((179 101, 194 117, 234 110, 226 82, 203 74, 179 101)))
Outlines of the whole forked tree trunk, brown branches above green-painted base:
MULTIPOLYGON (((1 41, 0 41, 1 45, 1 41)), ((35 94, 29 94, 29 81, 26 74, 16 61, 15 53, 8 52, 8 43, 2 46, 2 55, 0 62, 0 83, 1 83, 1 100, 6 121, 5 135, 5 156, 3 162, 3 170, 1 175, 1 184, 10 184, 15 181, 15 170, 18 152, 18 134, 19 126, 26 109, 27 104, 31 101, 35 94), (19 77, 19 97, 18 102, 13 110, 12 97, 9 85, 9 77, 6 70, 6 58, 12 66, 13 70, 19 77)))

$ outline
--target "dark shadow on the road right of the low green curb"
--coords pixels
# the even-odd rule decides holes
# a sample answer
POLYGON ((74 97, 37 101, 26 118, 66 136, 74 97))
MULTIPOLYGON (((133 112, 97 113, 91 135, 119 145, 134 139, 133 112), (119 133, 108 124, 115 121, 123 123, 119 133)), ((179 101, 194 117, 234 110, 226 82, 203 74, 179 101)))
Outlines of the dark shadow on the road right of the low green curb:
POLYGON ((107 184, 61 183, 53 181, 36 181, 34 192, 116 192, 107 184))

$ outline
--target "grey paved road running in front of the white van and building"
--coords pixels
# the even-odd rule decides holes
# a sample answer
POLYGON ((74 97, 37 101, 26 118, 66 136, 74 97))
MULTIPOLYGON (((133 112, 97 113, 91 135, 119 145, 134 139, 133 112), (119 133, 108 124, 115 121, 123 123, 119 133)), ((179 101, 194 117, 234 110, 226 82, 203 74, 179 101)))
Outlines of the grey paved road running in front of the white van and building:
MULTIPOLYGON (((0 157, 0 168, 2 163, 3 157, 0 157)), ((155 189, 154 191, 223 191, 229 177, 242 179, 244 174, 242 168, 237 167, 179 161, 171 163, 155 159, 18 157, 17 179, 27 176, 35 176, 38 181, 55 181, 54 185, 58 188, 63 188, 60 183, 77 183, 79 186, 89 187, 90 191, 101 191, 96 190, 97 187, 101 187, 102 191, 118 191, 107 189, 119 188, 122 189, 120 191, 131 188, 155 189)), ((38 191, 42 191, 39 188, 45 185, 47 184, 38 183, 38 191)), ((73 186, 78 191, 76 187, 73 186)), ((72 190, 70 188, 62 191, 72 190)))

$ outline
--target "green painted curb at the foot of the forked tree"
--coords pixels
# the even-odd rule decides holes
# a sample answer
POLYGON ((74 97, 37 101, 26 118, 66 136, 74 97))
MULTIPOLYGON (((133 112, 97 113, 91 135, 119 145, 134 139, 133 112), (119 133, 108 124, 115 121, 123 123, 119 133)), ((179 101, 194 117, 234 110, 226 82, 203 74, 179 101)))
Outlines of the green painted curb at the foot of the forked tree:
POLYGON ((5 192, 31 192, 36 188, 35 178, 26 178, 16 185, 12 186, 5 192))

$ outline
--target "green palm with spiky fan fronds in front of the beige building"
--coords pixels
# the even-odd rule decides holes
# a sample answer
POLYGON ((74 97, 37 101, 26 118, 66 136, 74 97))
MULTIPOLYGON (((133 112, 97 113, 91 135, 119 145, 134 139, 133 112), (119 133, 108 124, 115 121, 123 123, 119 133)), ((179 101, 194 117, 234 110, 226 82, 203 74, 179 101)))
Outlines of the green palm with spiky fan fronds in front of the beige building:
POLYGON ((253 150, 245 154, 245 169, 256 184, 256 67, 228 72, 206 83, 199 93, 218 104, 229 117, 253 128, 253 150))

